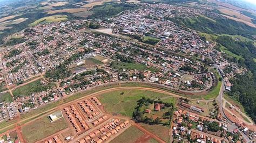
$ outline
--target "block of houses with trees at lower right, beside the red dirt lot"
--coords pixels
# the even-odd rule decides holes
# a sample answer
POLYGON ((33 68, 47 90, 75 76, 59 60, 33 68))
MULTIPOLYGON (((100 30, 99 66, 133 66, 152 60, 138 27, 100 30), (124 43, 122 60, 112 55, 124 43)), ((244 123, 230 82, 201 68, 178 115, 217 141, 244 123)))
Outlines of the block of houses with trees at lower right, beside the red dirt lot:
POLYGON ((239 138, 236 141, 242 141, 239 132, 233 132, 228 128, 229 126, 221 121, 199 116, 196 113, 177 110, 173 117, 173 139, 177 141, 232 142, 234 140, 233 135, 238 134, 239 138), (209 129, 210 126, 211 128, 218 128, 218 130, 212 131, 209 129))

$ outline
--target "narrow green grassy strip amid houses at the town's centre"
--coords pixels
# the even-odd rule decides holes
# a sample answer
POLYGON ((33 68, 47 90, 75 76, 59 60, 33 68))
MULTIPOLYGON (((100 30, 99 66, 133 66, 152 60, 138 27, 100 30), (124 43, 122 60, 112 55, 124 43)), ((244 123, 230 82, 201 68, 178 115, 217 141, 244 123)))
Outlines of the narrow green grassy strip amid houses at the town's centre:
POLYGON ((122 69, 137 69, 137 70, 151 70, 152 72, 156 72, 158 69, 156 68, 147 68, 145 65, 142 65, 140 63, 126 63, 126 62, 112 62, 111 63, 112 68, 116 68, 119 70, 122 69))

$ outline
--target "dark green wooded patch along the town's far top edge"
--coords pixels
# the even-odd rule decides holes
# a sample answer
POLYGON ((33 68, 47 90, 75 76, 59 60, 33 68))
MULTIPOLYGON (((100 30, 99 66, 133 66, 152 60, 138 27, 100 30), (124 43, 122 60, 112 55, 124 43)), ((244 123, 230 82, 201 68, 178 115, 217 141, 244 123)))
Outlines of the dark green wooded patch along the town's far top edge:
POLYGON ((138 5, 132 3, 105 3, 103 5, 95 5, 91 10, 93 12, 88 18, 112 17, 126 10, 137 9, 138 5))

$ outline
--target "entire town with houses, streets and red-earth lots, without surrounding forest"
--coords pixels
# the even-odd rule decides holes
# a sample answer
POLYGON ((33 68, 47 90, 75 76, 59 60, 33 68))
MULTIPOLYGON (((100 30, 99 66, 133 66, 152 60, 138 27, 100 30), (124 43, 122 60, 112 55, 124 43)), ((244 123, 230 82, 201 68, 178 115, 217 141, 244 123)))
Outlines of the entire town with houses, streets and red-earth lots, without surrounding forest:
POLYGON ((249 69, 210 35, 175 23, 226 17, 206 6, 136 5, 15 33, 23 41, 0 53, 0 142, 256 140, 253 119, 227 95, 249 69))

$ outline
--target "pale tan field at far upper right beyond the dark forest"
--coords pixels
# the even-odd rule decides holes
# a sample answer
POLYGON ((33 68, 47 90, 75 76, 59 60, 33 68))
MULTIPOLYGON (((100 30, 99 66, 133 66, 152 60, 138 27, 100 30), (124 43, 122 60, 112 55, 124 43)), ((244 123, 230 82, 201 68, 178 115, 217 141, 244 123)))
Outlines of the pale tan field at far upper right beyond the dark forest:
POLYGON ((220 12, 224 13, 225 15, 235 17, 246 22, 252 23, 251 17, 242 15, 239 11, 229 10, 229 9, 219 9, 220 12))

